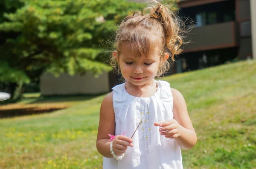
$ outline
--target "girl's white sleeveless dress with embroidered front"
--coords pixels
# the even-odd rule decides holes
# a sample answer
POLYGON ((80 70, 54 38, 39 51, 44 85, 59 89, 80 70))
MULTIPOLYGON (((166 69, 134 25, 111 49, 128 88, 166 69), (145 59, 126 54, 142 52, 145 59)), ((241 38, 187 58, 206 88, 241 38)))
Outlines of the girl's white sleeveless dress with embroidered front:
POLYGON ((157 92, 151 97, 134 97, 125 90, 125 83, 113 89, 115 135, 133 136, 122 160, 103 159, 103 169, 183 169, 180 146, 175 139, 160 135, 154 122, 173 119, 173 98, 170 84, 157 81, 157 92))

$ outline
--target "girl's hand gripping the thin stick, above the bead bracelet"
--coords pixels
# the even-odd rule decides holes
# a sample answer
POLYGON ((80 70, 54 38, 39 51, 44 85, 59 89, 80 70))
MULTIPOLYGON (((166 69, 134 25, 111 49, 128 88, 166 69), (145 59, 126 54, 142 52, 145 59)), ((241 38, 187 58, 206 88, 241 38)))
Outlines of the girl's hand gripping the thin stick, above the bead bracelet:
POLYGON ((133 139, 126 137, 124 135, 116 135, 113 139, 113 151, 116 155, 122 155, 126 152, 128 146, 133 146, 133 139))

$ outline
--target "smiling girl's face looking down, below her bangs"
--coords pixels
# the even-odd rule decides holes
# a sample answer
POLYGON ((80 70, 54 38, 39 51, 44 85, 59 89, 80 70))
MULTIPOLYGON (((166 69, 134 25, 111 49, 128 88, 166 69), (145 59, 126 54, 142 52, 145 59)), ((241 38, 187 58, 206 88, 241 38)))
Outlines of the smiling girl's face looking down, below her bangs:
MULTIPOLYGON (((117 56, 117 52, 115 51, 113 55, 117 56)), ((143 54, 140 57, 135 57, 131 54, 128 43, 122 44, 122 52, 117 59, 122 76, 136 86, 152 82, 160 64, 160 56, 154 55, 154 53, 150 57, 145 57, 143 54)))

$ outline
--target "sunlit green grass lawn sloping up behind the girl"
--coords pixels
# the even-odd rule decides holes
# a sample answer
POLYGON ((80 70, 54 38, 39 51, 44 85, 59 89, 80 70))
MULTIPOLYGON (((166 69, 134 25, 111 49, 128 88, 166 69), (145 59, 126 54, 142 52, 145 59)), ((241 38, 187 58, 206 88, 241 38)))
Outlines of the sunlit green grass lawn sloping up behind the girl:
MULTIPOLYGON (((183 94, 198 135, 193 149, 182 150, 185 169, 256 167, 256 61, 164 80, 183 94)), ((0 168, 102 169, 96 134, 103 98, 80 98, 53 113, 0 119, 0 168)))

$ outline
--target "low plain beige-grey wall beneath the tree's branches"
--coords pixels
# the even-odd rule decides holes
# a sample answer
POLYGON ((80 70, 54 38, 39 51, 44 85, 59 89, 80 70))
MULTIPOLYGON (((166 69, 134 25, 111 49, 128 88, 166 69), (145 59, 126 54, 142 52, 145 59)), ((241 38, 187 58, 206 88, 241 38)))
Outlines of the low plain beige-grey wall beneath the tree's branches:
POLYGON ((91 73, 83 76, 70 76, 66 73, 58 77, 44 74, 40 78, 40 90, 43 96, 99 94, 109 91, 108 73, 95 78, 91 73))

